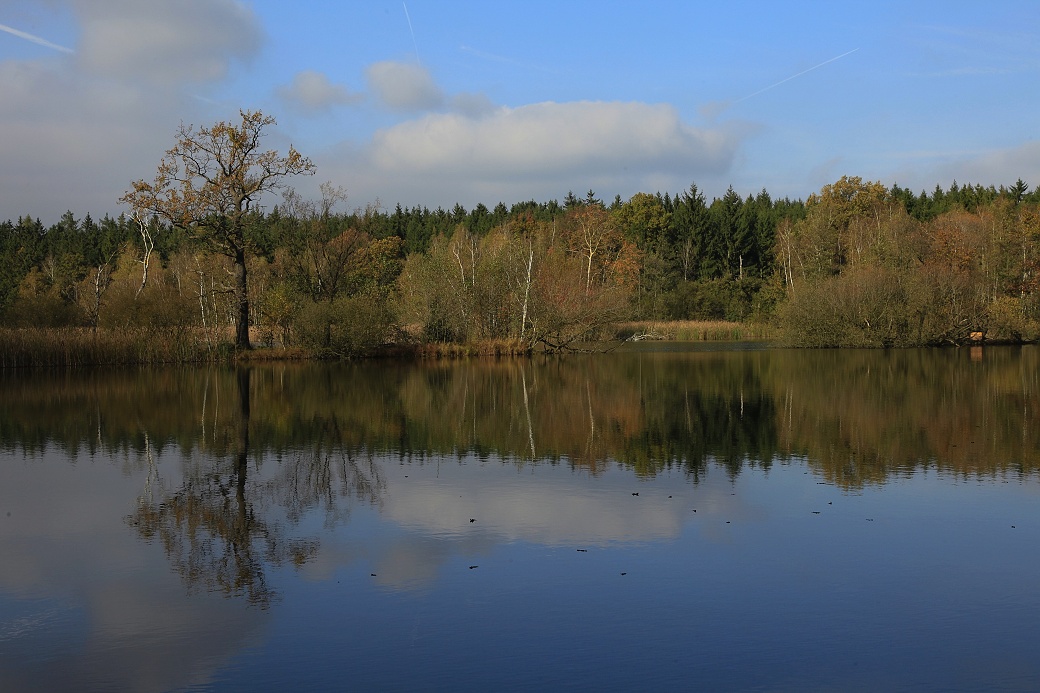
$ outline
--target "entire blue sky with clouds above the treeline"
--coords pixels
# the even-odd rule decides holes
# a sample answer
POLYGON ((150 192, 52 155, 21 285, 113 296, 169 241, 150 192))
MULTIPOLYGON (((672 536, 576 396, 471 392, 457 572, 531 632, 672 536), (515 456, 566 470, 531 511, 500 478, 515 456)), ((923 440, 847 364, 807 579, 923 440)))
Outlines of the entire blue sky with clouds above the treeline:
POLYGON ((0 219, 45 223, 239 108, 347 207, 1032 186, 1040 3, 0 0, 0 219))

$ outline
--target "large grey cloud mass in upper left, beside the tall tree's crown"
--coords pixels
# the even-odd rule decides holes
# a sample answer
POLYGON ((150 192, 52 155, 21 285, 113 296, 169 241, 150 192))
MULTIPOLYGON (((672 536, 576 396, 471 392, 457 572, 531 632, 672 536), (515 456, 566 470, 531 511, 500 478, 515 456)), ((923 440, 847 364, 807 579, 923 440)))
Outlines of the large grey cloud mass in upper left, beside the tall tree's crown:
POLYGON ((120 196, 154 175, 178 123, 235 116, 189 91, 226 76, 261 40, 234 0, 50 4, 71 11, 79 38, 68 57, 0 61, 0 220, 119 213, 120 196))

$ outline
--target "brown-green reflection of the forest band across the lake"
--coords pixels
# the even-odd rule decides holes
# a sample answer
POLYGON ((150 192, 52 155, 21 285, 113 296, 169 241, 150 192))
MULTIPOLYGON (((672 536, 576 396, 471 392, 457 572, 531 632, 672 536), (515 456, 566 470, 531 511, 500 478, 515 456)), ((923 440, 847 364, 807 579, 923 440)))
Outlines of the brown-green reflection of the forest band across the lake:
POLYGON ((1038 365, 1036 348, 992 346, 4 371, 0 444, 138 460, 174 447, 217 468, 271 454, 472 454, 592 473, 681 468, 693 483, 709 464, 735 476, 794 458, 854 489, 922 466, 1034 473, 1038 365))

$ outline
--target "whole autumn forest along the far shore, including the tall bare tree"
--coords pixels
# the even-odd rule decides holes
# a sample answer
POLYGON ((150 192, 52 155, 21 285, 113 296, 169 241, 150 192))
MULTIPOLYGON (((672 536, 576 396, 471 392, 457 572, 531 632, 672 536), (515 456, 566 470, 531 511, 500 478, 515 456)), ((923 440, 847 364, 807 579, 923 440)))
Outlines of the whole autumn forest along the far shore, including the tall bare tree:
MULTIPOLYGON (((242 116, 254 145, 274 122, 242 116)), ((179 146, 248 139, 219 126, 184 130, 179 146)), ((804 201, 732 187, 708 201, 695 183, 469 210, 344 209, 346 192, 323 183, 318 200, 279 185, 268 209, 251 203, 275 179, 246 173, 312 173, 294 151, 243 152, 238 183, 260 187, 211 200, 176 187, 192 176, 168 160, 115 219, 0 223, 5 364, 38 345, 27 328, 60 329, 58 351, 123 340, 113 359, 160 361, 254 344, 557 352, 667 320, 769 324, 799 346, 1040 337, 1040 191, 1021 180, 915 194, 846 176, 804 201)))

